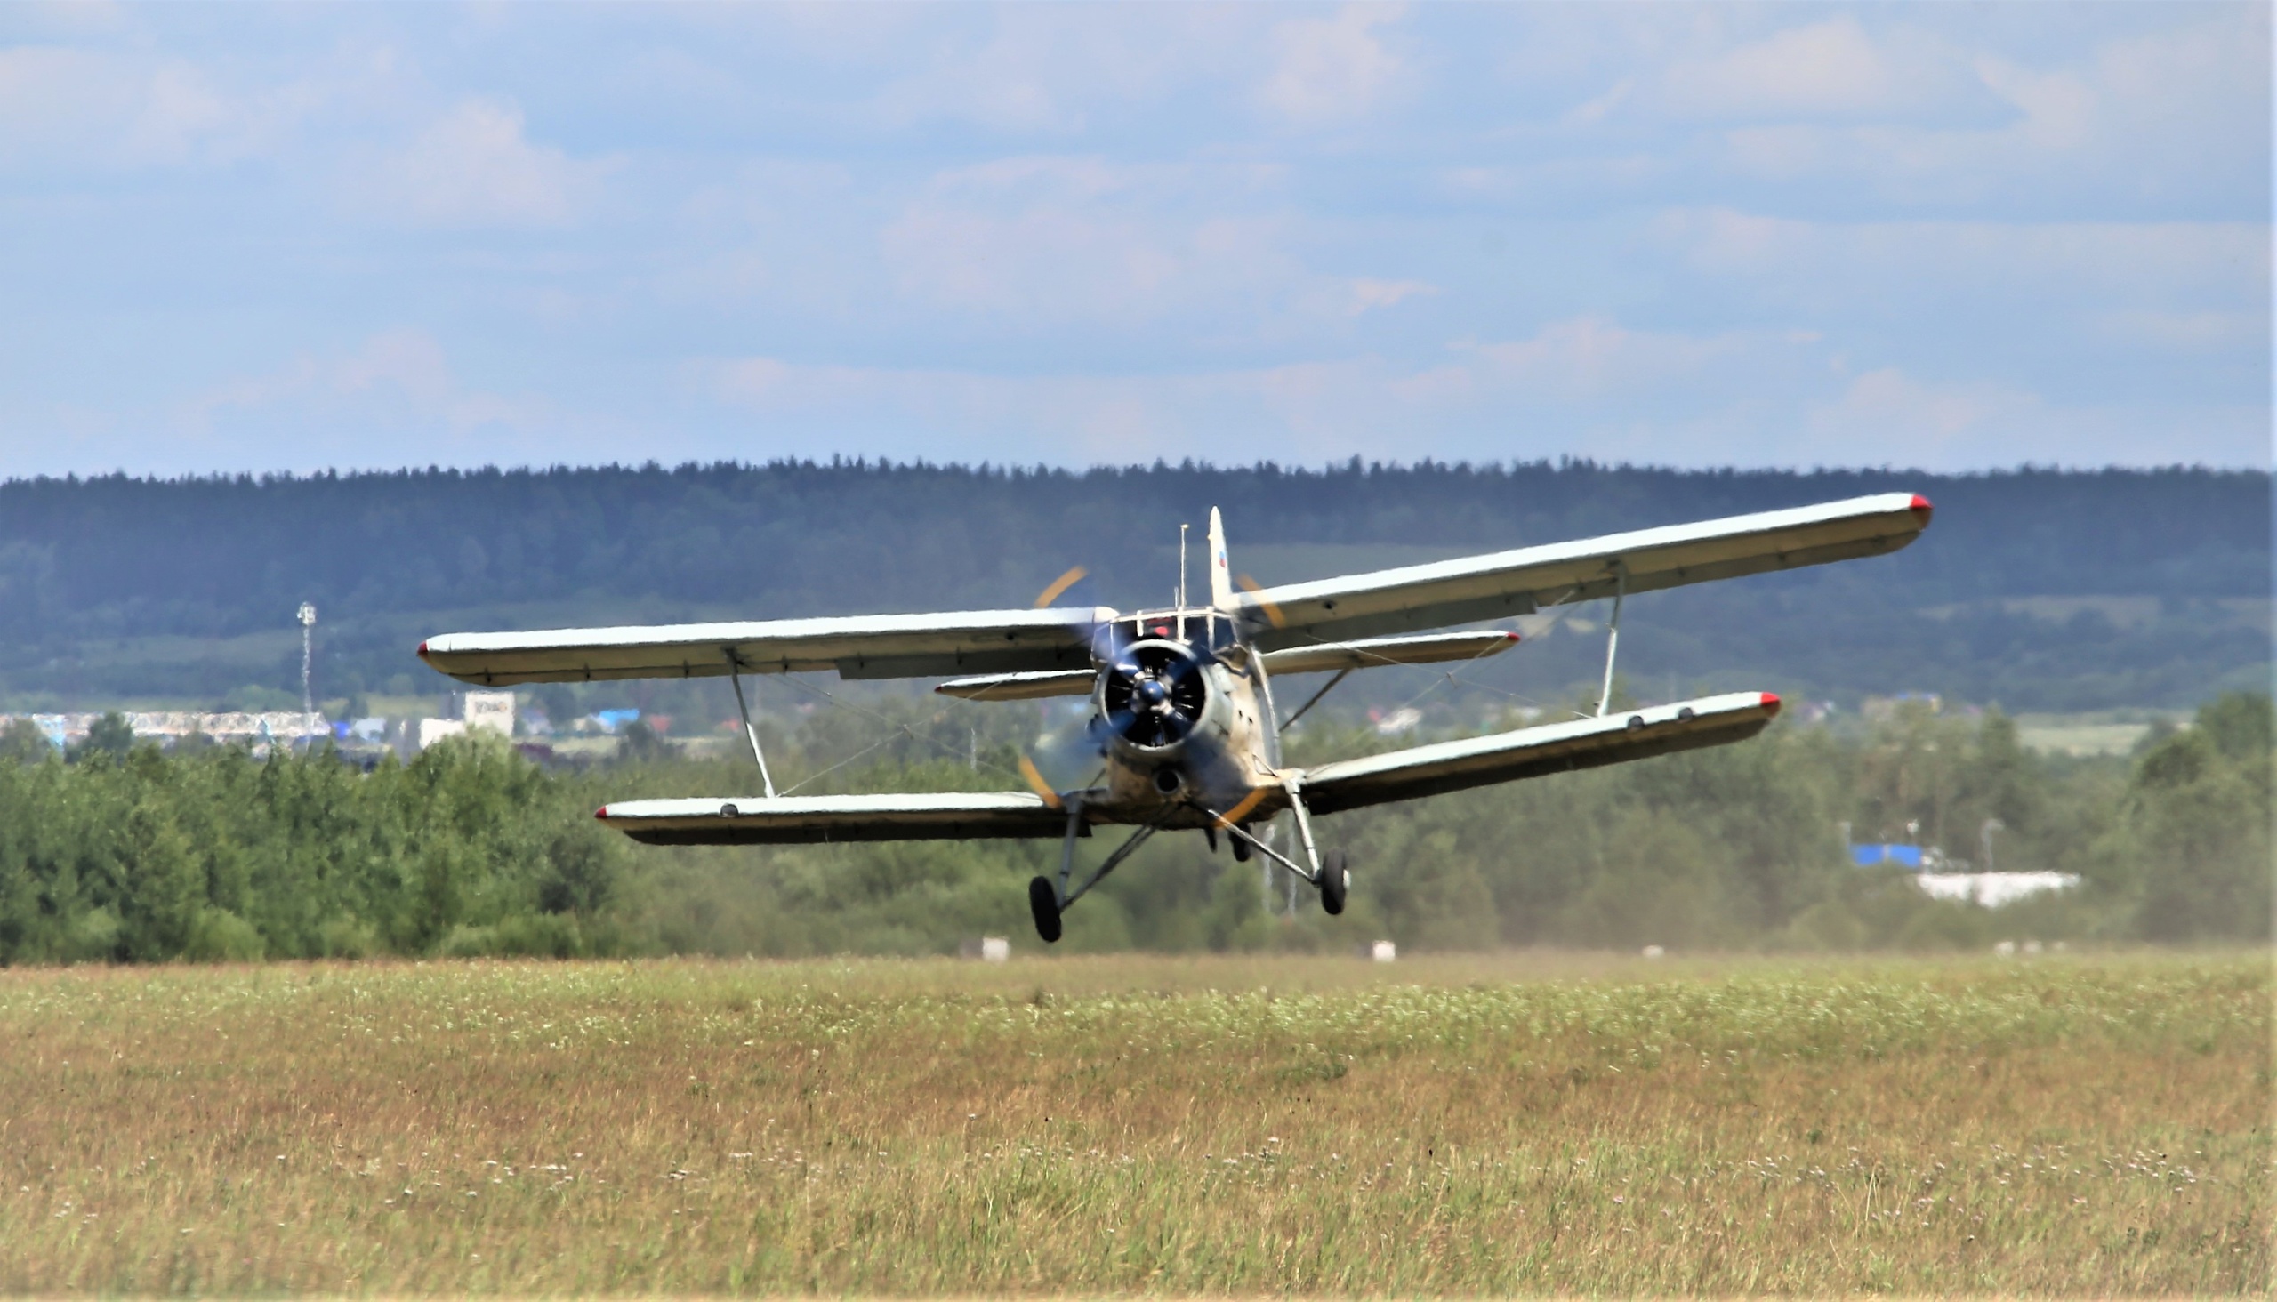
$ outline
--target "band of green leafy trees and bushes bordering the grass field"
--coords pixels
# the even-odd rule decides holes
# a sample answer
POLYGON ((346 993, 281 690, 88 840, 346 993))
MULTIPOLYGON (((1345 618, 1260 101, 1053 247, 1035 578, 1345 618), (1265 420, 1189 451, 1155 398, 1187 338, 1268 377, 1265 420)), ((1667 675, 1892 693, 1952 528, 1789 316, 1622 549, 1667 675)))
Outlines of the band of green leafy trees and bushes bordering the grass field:
MULTIPOLYGON (((1016 785, 1031 724, 922 703, 770 735, 806 792, 1016 785), (854 763, 847 763, 854 760, 854 763)), ((1307 753, 1389 744, 1337 726, 1307 753)), ((503 740, 369 769, 330 751, 162 753, 118 728, 55 756, 0 733, 0 961, 253 961, 435 954, 943 954, 1027 940, 1025 883, 1052 842, 649 849, 590 810, 638 794, 742 792, 740 765, 656 737, 594 769, 503 740)), ((1068 949, 1940 949, 1992 940, 2268 942, 2266 694, 2227 694, 2124 758, 2049 758, 2015 726, 1906 708, 1872 728, 1776 724, 1715 751, 1323 819, 1355 863, 1318 910, 1261 865, 1161 838, 1068 915, 1068 949), (2077 890, 1986 910, 1931 901, 1858 840, 1972 854, 2077 890)), ((1084 842, 1095 860, 1113 835, 1084 842)), ((1981 867, 1981 865, 1979 865, 1981 867)), ((1031 947, 1031 945, 1029 945, 1031 947)))

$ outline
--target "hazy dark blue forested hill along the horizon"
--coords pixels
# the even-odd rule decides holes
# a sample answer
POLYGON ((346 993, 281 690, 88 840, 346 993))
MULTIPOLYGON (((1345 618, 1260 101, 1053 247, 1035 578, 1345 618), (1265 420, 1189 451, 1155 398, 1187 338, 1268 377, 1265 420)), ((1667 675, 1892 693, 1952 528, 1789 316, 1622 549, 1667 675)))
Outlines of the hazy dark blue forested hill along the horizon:
MULTIPOLYGON (((0 694, 291 690, 301 601, 323 617, 326 694, 430 690, 410 646, 444 628, 1027 605, 1070 565, 1098 601, 1159 603, 1179 521, 1211 505, 1234 569, 1282 580, 1885 489, 1935 501, 1913 549, 1642 599, 1624 662, 2008 708, 2184 706, 2266 681, 2263 471, 799 462, 5 483, 0 694)), ((1532 674, 1587 676, 1585 637, 1548 642, 1532 674)))

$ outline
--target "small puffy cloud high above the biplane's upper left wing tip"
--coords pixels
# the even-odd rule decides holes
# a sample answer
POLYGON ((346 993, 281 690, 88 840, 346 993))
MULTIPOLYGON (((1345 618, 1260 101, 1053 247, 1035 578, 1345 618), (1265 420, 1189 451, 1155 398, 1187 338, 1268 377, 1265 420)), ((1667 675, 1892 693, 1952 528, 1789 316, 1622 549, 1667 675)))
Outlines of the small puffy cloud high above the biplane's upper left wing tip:
POLYGON ((606 164, 531 143, 521 109, 460 100, 357 178, 362 200, 428 225, 560 225, 594 196, 606 164))

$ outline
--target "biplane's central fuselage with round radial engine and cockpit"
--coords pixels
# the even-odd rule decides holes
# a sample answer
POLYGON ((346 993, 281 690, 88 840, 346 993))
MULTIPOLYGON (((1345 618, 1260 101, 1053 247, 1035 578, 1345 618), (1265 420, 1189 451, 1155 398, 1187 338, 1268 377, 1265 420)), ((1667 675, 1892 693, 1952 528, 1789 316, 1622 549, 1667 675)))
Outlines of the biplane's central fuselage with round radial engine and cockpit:
POLYGON ((1164 829, 1211 826, 1284 801, 1273 685, 1211 608, 1143 610, 1102 624, 1093 640, 1091 737, 1107 760, 1086 808, 1164 829), (1261 799, 1250 799, 1264 792, 1261 799))

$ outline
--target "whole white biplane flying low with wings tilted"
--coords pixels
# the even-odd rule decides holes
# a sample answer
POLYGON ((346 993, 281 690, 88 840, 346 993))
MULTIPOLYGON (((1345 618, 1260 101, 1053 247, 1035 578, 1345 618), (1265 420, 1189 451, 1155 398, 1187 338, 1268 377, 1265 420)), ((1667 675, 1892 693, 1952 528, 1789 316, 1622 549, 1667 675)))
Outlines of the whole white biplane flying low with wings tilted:
POLYGON ((1061 838, 1057 879, 1029 883, 1036 933, 1050 942, 1061 936, 1061 913, 1159 831, 1202 831, 1211 844, 1225 833, 1236 858, 1266 856, 1314 885, 1327 913, 1341 913, 1348 863, 1343 851, 1321 849, 1314 815, 1753 737, 1778 715, 1772 692, 1608 712, 1624 599, 1890 553, 1913 542, 1929 514, 1922 496, 1879 494, 1257 587, 1234 583, 1225 528, 1211 510, 1209 605, 1186 603, 1182 580, 1179 601, 1166 610, 1052 608, 1063 587, 1054 585, 1031 610, 451 633, 421 642, 419 656, 483 687, 724 676, 735 687, 763 794, 622 801, 601 806, 599 819, 649 844, 1061 838), (1501 628, 1423 631, 1608 596, 1596 715, 1325 765, 1282 763, 1282 731, 1346 674, 1475 660, 1519 640, 1501 628), (842 678, 947 678, 934 690, 970 701, 1091 697, 1088 735, 1104 769, 1082 790, 1052 790, 1022 760, 1029 792, 779 797, 742 676, 822 669, 842 678), (1327 671, 1334 678, 1305 706, 1280 712, 1277 678, 1327 671), (1296 858, 1257 833, 1282 813, 1296 822, 1296 858), (1095 826, 1134 831, 1075 883, 1075 842, 1095 826))

